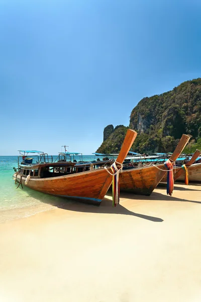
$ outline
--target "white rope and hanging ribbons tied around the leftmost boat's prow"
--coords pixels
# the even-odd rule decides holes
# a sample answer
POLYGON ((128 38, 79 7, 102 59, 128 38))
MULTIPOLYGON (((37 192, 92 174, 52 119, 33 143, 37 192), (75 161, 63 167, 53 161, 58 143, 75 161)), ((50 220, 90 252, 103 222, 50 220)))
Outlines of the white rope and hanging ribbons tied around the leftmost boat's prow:
POLYGON ((104 168, 110 175, 113 176, 113 206, 117 206, 120 200, 119 173, 122 172, 123 165, 118 162, 114 162, 110 167, 113 173, 111 173, 107 167, 104 168), (120 169, 118 169, 116 164, 121 166, 120 169))

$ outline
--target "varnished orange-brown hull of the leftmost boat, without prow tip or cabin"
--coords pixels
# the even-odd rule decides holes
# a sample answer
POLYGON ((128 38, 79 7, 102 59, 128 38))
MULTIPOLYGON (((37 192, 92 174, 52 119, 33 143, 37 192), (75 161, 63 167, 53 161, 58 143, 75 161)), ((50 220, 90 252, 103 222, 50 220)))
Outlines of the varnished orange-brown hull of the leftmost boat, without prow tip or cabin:
MULTIPOLYGON (((21 176, 17 175, 17 182, 20 179, 21 176)), ((27 185, 25 180, 26 177, 22 177, 23 186, 45 194, 100 204, 111 185, 112 177, 105 169, 98 169, 60 177, 30 178, 27 185)))

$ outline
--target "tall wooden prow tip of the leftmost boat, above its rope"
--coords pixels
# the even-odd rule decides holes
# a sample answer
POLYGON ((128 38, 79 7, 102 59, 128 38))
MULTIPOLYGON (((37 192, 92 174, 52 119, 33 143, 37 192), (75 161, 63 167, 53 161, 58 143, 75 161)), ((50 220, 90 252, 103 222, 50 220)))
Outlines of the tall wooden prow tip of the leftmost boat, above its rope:
POLYGON ((135 130, 131 130, 131 129, 127 130, 127 133, 126 133, 126 136, 125 136, 120 154, 117 158, 118 163, 122 164, 123 161, 125 160, 125 158, 126 158, 127 154, 129 153, 129 150, 130 150, 137 134, 138 133, 135 130))

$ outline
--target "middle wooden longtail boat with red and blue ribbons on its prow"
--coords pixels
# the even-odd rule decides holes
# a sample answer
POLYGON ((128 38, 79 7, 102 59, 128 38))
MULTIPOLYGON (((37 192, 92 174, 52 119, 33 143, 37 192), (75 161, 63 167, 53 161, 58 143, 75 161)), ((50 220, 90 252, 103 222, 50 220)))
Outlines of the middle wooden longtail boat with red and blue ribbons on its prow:
MULTIPOLYGON (((170 157, 171 161, 175 162, 189 139, 190 136, 186 134, 182 135, 174 153, 170 157)), ((149 196, 167 173, 164 164, 156 166, 123 170, 119 175, 120 191, 149 196)))

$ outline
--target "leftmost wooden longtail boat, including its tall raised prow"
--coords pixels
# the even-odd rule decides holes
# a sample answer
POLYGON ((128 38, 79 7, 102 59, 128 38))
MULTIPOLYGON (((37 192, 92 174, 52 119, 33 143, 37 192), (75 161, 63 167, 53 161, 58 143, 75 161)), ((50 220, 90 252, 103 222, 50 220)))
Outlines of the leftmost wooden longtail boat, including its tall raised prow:
MULTIPOLYGON (((136 136, 136 131, 128 129, 118 163, 123 163, 136 136)), ((121 168, 118 164, 117 167, 121 168)), ((111 168, 109 170, 112 173, 111 168)), ((13 178, 22 186, 42 193, 93 204, 100 204, 112 183, 112 175, 106 169, 76 173, 75 163, 72 162, 19 164, 19 171, 13 178)))

